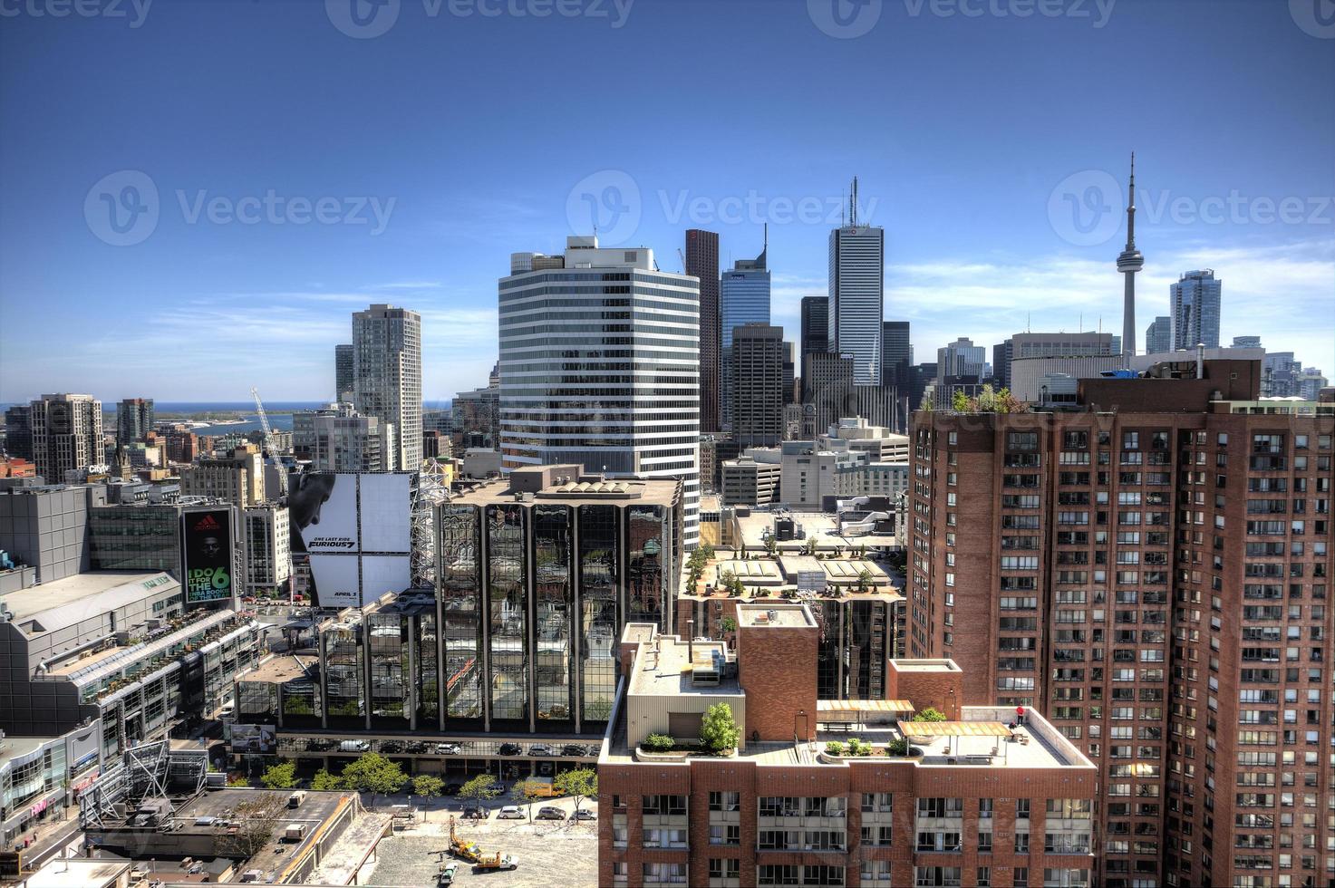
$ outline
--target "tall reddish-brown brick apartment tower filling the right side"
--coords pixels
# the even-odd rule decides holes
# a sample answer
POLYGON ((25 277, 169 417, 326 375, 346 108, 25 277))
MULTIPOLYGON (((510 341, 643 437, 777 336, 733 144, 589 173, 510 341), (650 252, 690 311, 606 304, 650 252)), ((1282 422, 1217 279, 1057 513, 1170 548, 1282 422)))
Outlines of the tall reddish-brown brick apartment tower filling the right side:
POLYGON ((1258 401, 1258 362, 1149 377, 916 414, 908 653, 1096 764, 1096 884, 1332 884, 1335 409, 1258 401))

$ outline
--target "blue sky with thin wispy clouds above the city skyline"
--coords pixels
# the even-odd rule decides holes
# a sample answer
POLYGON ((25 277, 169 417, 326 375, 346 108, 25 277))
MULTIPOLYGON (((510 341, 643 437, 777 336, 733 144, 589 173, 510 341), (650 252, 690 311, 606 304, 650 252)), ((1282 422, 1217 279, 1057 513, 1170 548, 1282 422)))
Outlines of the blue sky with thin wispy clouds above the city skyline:
POLYGON ((423 314, 447 398, 586 194, 666 270, 769 220, 796 338, 854 174, 918 361, 1119 331, 1132 148, 1141 335, 1214 267, 1226 341, 1335 375, 1328 0, 138 1, 0 3, 0 402, 330 397, 370 302, 423 314))

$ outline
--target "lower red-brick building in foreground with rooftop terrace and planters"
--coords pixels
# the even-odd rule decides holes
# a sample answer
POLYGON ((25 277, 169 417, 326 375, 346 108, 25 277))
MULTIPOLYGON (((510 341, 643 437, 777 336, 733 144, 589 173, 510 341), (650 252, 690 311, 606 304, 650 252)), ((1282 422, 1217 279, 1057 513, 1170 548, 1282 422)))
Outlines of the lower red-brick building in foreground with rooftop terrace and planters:
POLYGON ((885 700, 820 700, 806 604, 740 604, 737 624, 736 652, 626 626, 598 762, 598 884, 1092 884, 1096 772, 1045 720, 1012 728, 1012 708, 961 706, 948 660, 890 661, 885 700), (741 728, 736 754, 642 749, 651 732, 698 736, 717 702, 741 728), (926 706, 948 721, 897 721, 926 706), (914 729, 921 754, 886 754, 914 729), (850 737, 874 754, 825 745, 850 737))

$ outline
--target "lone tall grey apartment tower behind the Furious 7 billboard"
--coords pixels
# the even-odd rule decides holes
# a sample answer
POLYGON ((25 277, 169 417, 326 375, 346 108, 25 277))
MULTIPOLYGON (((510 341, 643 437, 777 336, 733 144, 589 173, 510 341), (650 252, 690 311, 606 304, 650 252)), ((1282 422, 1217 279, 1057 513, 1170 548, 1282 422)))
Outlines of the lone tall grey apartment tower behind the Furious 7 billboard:
POLYGON ((422 462, 422 316, 372 304, 352 315, 352 402, 363 417, 394 426, 394 469, 422 462))

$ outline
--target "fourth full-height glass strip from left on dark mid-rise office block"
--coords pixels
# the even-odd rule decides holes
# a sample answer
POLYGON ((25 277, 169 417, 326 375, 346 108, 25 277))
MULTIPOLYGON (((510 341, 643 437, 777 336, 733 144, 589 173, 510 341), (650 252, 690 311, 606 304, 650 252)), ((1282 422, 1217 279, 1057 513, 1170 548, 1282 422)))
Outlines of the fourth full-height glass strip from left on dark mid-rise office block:
POLYGON ((579 506, 579 686, 585 724, 606 721, 617 692, 617 510, 579 506))

